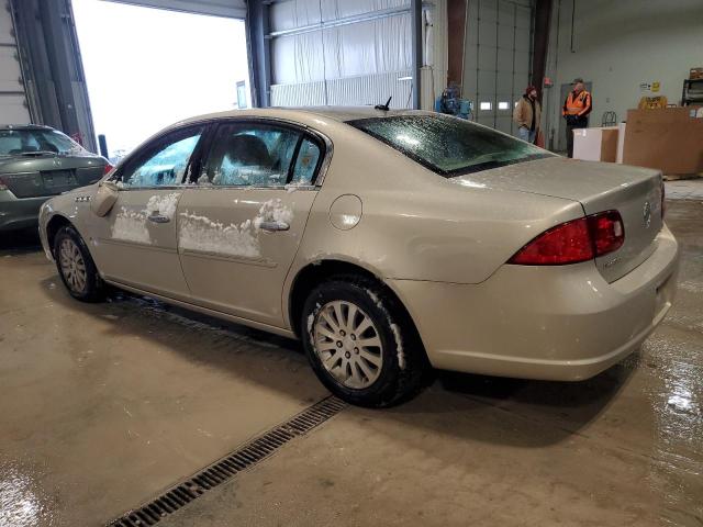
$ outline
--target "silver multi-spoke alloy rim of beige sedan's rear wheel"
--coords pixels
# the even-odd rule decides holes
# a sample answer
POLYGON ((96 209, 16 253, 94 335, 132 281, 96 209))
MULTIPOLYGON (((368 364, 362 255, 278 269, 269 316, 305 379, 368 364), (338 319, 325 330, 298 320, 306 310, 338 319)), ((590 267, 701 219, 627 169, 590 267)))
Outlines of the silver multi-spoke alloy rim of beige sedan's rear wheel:
POLYGON ((313 346, 322 366, 346 388, 360 390, 378 379, 383 346, 373 321, 352 302, 322 306, 314 319, 313 346))

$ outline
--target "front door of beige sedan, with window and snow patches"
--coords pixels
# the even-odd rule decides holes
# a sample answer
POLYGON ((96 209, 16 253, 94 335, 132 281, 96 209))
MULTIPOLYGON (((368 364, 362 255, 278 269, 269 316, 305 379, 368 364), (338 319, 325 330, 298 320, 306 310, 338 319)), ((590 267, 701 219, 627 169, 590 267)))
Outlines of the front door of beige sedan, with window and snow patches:
POLYGON ((91 221, 91 251, 108 280, 188 300, 178 258, 176 209, 204 125, 169 132, 130 156, 111 178, 118 200, 91 221))

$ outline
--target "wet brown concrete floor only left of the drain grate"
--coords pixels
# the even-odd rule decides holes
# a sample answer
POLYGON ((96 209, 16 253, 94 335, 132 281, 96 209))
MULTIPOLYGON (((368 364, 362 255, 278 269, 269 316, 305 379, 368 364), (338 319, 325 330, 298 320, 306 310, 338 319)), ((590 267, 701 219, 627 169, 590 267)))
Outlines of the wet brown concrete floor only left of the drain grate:
POLYGON ((297 344, 0 251, 0 526, 101 525, 325 396, 297 344))

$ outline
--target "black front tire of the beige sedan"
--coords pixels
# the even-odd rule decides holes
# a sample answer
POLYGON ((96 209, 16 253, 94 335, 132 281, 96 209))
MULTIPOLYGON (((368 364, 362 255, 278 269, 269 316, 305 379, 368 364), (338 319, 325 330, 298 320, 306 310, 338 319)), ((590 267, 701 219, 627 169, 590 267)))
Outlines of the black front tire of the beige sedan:
POLYGON ((80 234, 78 234, 72 226, 66 225, 56 233, 54 237, 54 259, 56 260, 58 274, 62 277, 64 285, 66 285, 66 289, 72 298, 83 302, 100 302, 104 300, 105 283, 98 273, 96 262, 92 260, 83 238, 80 237, 80 234), (83 277, 85 273, 82 280, 71 279, 71 269, 70 267, 66 268, 66 260, 64 260, 64 265, 62 265, 62 246, 64 246, 64 244, 67 244, 67 247, 76 248, 79 255, 77 255, 76 261, 82 262, 83 272, 80 272, 80 269, 78 269, 78 271, 74 269, 72 272, 80 272, 80 277, 83 277))

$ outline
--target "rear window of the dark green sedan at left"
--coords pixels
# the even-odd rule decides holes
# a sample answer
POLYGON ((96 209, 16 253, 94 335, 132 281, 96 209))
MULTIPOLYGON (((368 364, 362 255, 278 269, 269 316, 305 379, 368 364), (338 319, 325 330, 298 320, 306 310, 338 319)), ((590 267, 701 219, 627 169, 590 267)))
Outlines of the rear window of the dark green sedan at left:
POLYGON ((0 156, 22 156, 51 153, 81 154, 83 148, 56 130, 0 130, 0 156))

